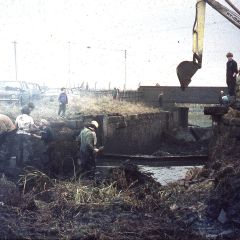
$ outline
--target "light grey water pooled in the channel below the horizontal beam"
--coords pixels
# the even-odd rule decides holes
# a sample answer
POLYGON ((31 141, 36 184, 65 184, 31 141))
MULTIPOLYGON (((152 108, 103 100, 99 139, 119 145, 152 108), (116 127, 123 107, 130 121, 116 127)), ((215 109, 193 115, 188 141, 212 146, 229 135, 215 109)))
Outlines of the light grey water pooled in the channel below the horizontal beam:
MULTIPOLYGON (((149 166, 139 166, 141 170, 145 172, 150 172, 153 177, 160 182, 162 185, 183 179, 187 171, 192 166, 181 166, 181 167, 149 167, 149 166)), ((196 166, 202 167, 202 166, 196 166)))

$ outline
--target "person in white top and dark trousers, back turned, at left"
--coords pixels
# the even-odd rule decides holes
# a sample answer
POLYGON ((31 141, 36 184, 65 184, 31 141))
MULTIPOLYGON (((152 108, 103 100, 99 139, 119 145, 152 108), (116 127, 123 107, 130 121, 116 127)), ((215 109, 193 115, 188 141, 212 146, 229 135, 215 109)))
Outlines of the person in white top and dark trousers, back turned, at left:
POLYGON ((15 125, 17 128, 17 158, 16 164, 21 167, 28 164, 32 158, 32 139, 31 133, 36 126, 33 118, 30 116, 30 109, 23 107, 21 115, 16 118, 15 125))

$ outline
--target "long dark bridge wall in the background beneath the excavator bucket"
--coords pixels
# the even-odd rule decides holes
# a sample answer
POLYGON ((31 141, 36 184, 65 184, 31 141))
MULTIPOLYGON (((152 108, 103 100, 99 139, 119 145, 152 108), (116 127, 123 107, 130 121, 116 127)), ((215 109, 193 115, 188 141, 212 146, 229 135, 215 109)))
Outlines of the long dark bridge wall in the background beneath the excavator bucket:
POLYGON ((143 101, 159 106, 158 97, 163 94, 163 105, 174 103, 216 104, 220 91, 227 93, 226 87, 188 87, 182 91, 179 86, 141 86, 143 101))

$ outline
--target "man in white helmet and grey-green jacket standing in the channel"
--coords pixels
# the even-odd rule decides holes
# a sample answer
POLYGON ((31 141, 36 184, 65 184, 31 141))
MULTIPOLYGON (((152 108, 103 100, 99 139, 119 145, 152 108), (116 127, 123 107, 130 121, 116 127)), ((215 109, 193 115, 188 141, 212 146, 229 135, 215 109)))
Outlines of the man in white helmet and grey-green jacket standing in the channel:
POLYGON ((92 121, 86 125, 77 137, 80 142, 80 172, 81 177, 93 179, 95 176, 95 156, 99 152, 96 148, 97 136, 96 130, 99 124, 97 121, 92 121))

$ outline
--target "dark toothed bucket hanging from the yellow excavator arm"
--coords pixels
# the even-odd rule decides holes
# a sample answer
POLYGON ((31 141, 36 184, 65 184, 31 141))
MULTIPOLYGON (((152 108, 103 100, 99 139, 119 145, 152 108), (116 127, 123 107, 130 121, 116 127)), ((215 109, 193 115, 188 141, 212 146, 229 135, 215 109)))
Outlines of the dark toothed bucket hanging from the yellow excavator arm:
POLYGON ((193 61, 183 61, 177 66, 177 76, 183 91, 187 88, 192 76, 198 69, 199 66, 193 61))

